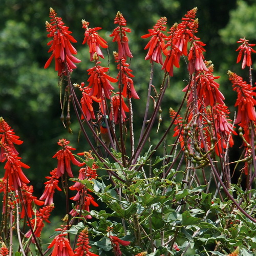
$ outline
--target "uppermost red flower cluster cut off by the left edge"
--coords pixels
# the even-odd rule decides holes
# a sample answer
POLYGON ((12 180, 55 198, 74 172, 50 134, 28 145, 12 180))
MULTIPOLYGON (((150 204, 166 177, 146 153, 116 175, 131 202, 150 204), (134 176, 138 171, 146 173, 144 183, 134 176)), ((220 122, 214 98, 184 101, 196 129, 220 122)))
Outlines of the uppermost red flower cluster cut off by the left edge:
POLYGON ((5 153, 5 149, 3 147, 4 144, 9 146, 12 151, 18 155, 18 152, 16 151, 13 144, 20 145, 23 141, 19 140, 19 137, 15 135, 13 132, 13 129, 11 129, 11 126, 4 120, 3 117, 0 117, 0 162, 4 159, 3 154, 5 153), (2 145, 2 146, 1 146, 2 145))

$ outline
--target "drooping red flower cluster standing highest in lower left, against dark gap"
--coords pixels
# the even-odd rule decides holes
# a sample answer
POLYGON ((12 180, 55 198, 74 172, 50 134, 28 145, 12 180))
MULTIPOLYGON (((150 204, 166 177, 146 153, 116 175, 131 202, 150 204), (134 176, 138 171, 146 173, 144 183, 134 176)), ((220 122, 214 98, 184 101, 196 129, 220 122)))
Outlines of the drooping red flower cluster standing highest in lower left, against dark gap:
POLYGON ((76 149, 71 146, 68 146, 69 143, 70 143, 70 141, 68 141, 66 139, 61 139, 57 143, 59 146, 63 147, 62 150, 59 150, 53 156, 53 158, 57 157, 57 159, 58 159, 58 166, 57 166, 57 173, 56 173, 56 176, 58 178, 61 177, 65 173, 65 171, 67 172, 69 177, 71 177, 71 178, 74 177, 72 174, 70 161, 77 166, 81 165, 81 163, 78 162, 71 153, 71 150, 76 150, 76 149))

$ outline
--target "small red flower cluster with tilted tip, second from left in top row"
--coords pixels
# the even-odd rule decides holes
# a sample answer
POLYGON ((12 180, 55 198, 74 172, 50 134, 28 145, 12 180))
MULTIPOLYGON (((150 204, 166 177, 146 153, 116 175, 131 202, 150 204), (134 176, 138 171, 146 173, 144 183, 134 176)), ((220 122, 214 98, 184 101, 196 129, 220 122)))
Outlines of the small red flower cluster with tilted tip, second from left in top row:
POLYGON ((89 52, 90 52, 90 60, 93 60, 93 55, 97 53, 97 56, 100 56, 101 58, 104 58, 103 53, 100 50, 100 47, 102 48, 108 48, 107 42, 98 35, 97 30, 100 30, 100 27, 97 28, 88 28, 89 22, 86 22, 86 20, 82 19, 82 27, 86 30, 84 32, 84 39, 82 44, 88 44, 89 46, 89 52))

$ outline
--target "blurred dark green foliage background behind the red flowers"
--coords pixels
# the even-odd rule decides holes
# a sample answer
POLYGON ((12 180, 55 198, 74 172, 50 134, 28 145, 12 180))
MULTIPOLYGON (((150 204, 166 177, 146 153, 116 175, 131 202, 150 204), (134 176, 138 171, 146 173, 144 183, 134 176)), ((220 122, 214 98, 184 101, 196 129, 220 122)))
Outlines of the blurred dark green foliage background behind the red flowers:
MULTIPOLYGON (((44 69, 45 62, 50 57, 47 46, 49 38, 45 29, 46 20, 50 20, 50 7, 57 12, 57 16, 62 17, 77 40, 74 47, 78 51, 77 57, 82 62, 78 63, 78 68, 72 74, 72 83, 86 82, 86 70, 93 66, 90 63, 88 46, 82 45, 84 30, 81 20, 90 22, 91 28, 102 27, 99 33, 109 42, 112 53, 113 50, 117 50, 117 46, 115 43, 111 44, 112 38, 108 35, 116 27, 113 22, 116 12, 120 11, 124 15, 127 26, 132 29, 132 33, 129 34, 130 48, 134 56, 131 69, 134 70, 134 84, 141 98, 139 101, 133 100, 136 110, 135 131, 141 127, 151 66, 150 61, 144 60, 146 51, 143 49, 148 40, 140 36, 146 34, 147 29, 151 29, 160 17, 167 17, 168 30, 174 23, 179 23, 188 10, 198 7, 197 36, 206 44, 205 59, 212 60, 215 75, 221 76, 218 80, 220 90, 226 97, 225 103, 231 111, 230 117, 233 117, 236 94, 233 93, 228 81, 227 70, 237 72, 248 81, 248 71, 242 71, 241 63, 236 63, 236 41, 245 36, 251 43, 256 42, 254 0, 2 0, 0 116, 3 116, 16 135, 24 140, 22 145, 17 146, 17 150, 23 162, 31 167, 25 173, 35 188, 36 196, 40 197, 44 189, 44 177, 57 165, 56 159, 52 159, 52 156, 59 150, 58 139, 71 140, 72 146, 78 149, 76 153, 90 150, 83 138, 77 143, 79 127, 74 114, 71 117, 73 135, 70 135, 60 122, 57 72, 54 71, 53 64, 47 70, 44 69)), ((104 55, 107 56, 105 51, 104 55)), ((254 56, 252 60, 255 60, 254 56)), ((103 64, 106 63, 104 61, 103 64)), ((116 76, 113 58, 111 68, 114 68, 111 75, 116 76)), ((163 75, 160 71, 160 67, 156 67, 156 76, 153 80, 156 88, 159 88, 163 75)), ((184 95, 182 89, 187 85, 188 75, 185 72, 184 61, 181 63, 181 69, 176 69, 174 73, 162 104, 163 123, 158 134, 156 129, 153 131, 153 143, 157 142, 161 132, 165 131, 170 122, 169 107, 177 109, 184 95)), ((172 134, 169 137, 172 138, 172 134)), ((1 169, 3 174, 3 165, 1 169)))

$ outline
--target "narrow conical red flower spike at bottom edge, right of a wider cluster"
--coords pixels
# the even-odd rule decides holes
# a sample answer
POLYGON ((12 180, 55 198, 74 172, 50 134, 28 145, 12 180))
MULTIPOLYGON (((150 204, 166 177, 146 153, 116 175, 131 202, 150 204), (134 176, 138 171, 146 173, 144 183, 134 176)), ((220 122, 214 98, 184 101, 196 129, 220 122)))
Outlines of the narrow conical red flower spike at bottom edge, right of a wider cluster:
POLYGON ((98 256, 97 254, 90 251, 92 248, 89 245, 88 229, 84 228, 78 235, 77 244, 78 247, 75 249, 76 256, 98 256))

